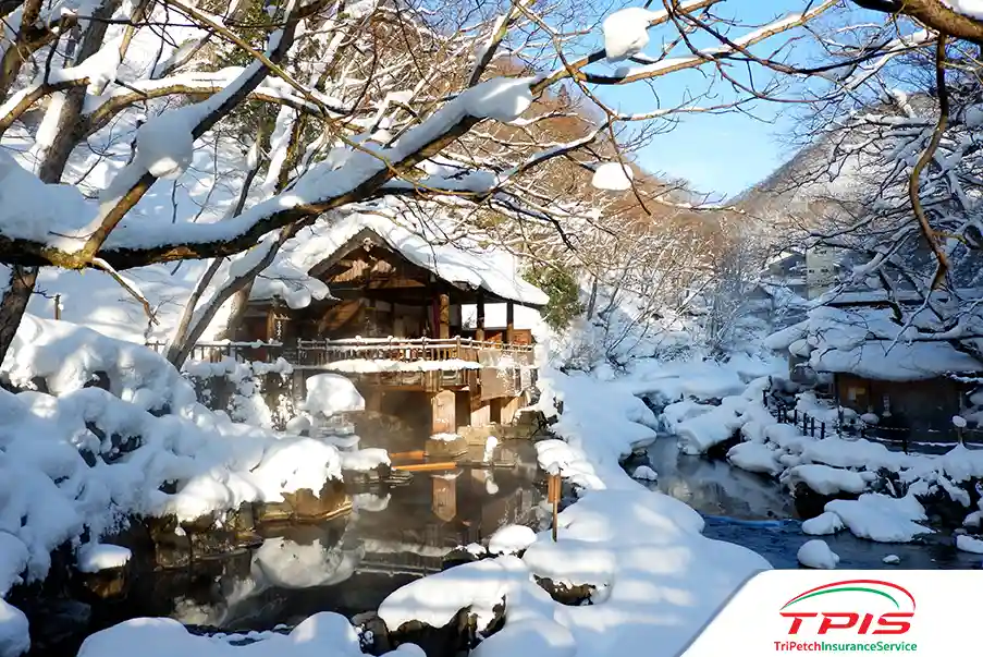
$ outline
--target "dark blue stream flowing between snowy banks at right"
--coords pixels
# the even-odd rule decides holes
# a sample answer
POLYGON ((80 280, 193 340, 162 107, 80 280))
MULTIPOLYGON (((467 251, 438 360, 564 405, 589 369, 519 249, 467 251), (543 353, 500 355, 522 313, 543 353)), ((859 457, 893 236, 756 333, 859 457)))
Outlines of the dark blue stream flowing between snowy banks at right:
MULTIPOLYGON (((708 537, 748 547, 775 568, 798 568, 796 552, 814 537, 802 534, 788 491, 782 486, 724 461, 681 454, 672 436, 656 440, 648 453, 659 473, 659 480, 651 487, 703 514, 708 537)), ((978 569, 983 564, 979 555, 957 550, 949 537, 922 544, 884 544, 840 532, 821 538, 839 555, 841 569, 978 569), (884 563, 888 555, 896 555, 900 562, 884 563)))

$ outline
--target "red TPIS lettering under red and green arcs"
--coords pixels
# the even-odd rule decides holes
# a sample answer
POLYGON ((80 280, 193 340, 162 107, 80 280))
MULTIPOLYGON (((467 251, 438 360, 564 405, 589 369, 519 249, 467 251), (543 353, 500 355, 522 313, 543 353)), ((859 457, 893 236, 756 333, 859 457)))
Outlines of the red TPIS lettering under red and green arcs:
POLYGON ((911 629, 914 596, 883 580, 845 580, 803 591, 778 610, 788 633, 905 634, 911 629))

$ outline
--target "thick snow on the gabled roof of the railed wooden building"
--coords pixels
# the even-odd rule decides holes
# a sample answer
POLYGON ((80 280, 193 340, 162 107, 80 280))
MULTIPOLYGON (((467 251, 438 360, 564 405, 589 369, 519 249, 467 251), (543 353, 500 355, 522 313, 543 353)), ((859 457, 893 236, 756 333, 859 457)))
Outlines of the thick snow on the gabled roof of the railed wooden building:
POLYGON ((410 230, 398 223, 398 219, 364 212, 324 215, 302 230, 257 279, 251 297, 283 297, 294 308, 306 306, 311 295, 323 299, 327 290, 320 281, 308 276, 311 268, 365 231, 370 231, 410 263, 451 283, 481 288, 503 300, 528 306, 543 306, 550 301, 545 292, 523 280, 516 257, 501 248, 433 244, 420 234, 422 231, 410 230))

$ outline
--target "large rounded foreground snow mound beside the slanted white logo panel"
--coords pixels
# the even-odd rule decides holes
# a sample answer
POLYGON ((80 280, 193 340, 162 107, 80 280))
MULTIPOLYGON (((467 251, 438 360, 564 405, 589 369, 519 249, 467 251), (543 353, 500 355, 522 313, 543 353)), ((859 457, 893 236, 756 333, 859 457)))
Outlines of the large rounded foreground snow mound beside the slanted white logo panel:
POLYGON ((544 532, 521 560, 500 557, 418 580, 388 597, 379 616, 390 629, 414 619, 442 626, 469 607, 481 629, 504 604, 505 626, 479 647, 486 657, 530 654, 526 646, 614 656, 658 645, 675 655, 737 586, 769 568, 750 550, 702 536, 702 527, 696 511, 661 494, 591 491, 560 514, 556 543, 544 532), (533 575, 593 584, 599 594, 590 606, 561 605, 533 575))

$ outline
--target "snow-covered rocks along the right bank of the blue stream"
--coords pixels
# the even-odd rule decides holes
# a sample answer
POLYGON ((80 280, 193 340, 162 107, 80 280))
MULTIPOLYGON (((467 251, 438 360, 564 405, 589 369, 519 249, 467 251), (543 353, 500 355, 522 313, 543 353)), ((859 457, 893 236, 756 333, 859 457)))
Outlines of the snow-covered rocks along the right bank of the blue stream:
MULTIPOLYGON (((638 380, 634 381, 636 386, 638 380)), ((911 540, 930 532, 918 524, 925 515, 916 494, 927 496, 942 491, 957 503, 970 506, 964 485, 983 478, 983 450, 959 445, 942 455, 905 454, 867 439, 847 440, 835 435, 833 423, 839 411, 824 405, 812 393, 800 394, 796 407, 800 413, 828 422, 830 426, 825 437, 806 435, 795 425, 779 423, 764 406, 761 392, 765 381, 754 379, 742 394, 724 397, 717 405, 692 399, 672 403, 664 409, 661 422, 679 435, 683 449, 689 453, 701 453, 739 431, 745 441, 727 452, 729 462, 749 472, 776 476, 791 490, 803 484, 820 495, 864 494, 856 501, 837 500, 831 502, 832 507, 827 504, 827 513, 803 525, 803 531, 810 534, 835 532, 841 523, 862 538, 911 540), (900 484, 898 495, 908 491, 907 497, 867 495, 874 483, 885 483, 885 472, 892 473, 900 484), (869 516, 876 513, 882 513, 880 521, 871 521, 869 516)), ((667 389, 680 392, 675 385, 667 389)), ((895 486, 890 482, 885 485, 895 486)), ((970 513, 967 521, 979 522, 979 518, 970 513)))

